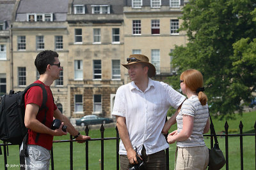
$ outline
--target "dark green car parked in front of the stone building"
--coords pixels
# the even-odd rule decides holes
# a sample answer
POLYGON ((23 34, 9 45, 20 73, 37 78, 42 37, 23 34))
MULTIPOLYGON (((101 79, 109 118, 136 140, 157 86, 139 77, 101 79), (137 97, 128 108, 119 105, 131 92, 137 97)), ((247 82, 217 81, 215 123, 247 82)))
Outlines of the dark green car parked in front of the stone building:
POLYGON ((112 118, 98 117, 97 115, 86 115, 76 120, 76 125, 95 125, 95 124, 109 124, 113 122, 112 118))

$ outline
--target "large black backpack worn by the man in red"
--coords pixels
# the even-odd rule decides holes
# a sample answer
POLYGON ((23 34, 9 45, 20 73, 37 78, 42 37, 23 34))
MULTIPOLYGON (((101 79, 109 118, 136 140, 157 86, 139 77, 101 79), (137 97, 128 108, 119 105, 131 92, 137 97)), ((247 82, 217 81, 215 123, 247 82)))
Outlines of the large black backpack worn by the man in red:
POLYGON ((47 101, 47 92, 44 85, 40 83, 32 83, 26 87, 23 92, 10 90, 10 94, 4 94, 4 96, 0 98, 0 139, 5 143, 10 142, 15 145, 20 145, 28 132, 24 124, 24 96, 28 89, 33 86, 40 86, 43 90, 43 102, 40 110, 45 108, 46 114, 47 107, 45 104, 47 101))

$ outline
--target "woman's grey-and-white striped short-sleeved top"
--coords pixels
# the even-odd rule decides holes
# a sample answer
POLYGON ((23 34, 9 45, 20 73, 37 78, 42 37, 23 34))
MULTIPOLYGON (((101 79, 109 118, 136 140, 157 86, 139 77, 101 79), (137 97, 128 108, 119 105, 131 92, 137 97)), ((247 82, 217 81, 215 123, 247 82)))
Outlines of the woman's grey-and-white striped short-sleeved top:
POLYGON ((205 146, 203 132, 209 117, 208 104, 202 106, 198 96, 191 96, 189 99, 184 101, 179 115, 176 117, 178 133, 183 127, 182 115, 194 117, 194 126, 191 136, 186 141, 177 141, 177 146, 180 148, 205 146))

